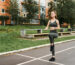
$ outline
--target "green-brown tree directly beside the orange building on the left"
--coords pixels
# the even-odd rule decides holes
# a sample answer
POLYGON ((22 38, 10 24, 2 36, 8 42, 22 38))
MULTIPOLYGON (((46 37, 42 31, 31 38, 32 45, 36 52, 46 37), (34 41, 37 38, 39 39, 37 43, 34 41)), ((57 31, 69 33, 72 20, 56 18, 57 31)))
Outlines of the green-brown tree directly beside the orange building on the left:
POLYGON ((19 14, 18 2, 17 0, 10 0, 8 4, 7 12, 11 15, 11 19, 17 24, 19 14))

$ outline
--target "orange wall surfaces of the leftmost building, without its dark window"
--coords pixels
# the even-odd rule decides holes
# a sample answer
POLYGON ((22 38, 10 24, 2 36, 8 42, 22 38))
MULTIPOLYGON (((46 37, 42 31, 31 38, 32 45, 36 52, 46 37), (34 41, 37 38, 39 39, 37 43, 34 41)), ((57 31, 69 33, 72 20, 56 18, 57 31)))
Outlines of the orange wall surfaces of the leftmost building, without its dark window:
MULTIPOLYGON (((6 13, 6 9, 7 9, 7 6, 9 6, 9 0, 0 0, 0 16, 9 16, 10 15, 8 13, 6 13), (4 13, 2 12, 2 9, 4 9, 4 13)), ((0 21, 0 24, 2 24, 2 21, 0 21)), ((6 21, 6 24, 10 24, 10 19, 6 21)))

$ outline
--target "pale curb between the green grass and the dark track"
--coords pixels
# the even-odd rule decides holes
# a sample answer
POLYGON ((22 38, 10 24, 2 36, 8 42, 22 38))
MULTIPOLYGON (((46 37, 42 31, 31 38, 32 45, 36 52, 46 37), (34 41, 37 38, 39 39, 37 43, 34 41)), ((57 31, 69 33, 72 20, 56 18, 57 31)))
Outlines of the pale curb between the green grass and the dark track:
MULTIPOLYGON (((75 39, 66 40, 66 41, 61 41, 61 42, 55 42, 55 44, 65 43, 65 42, 74 41, 74 40, 75 40, 75 39)), ((25 49, 20 49, 20 50, 14 50, 14 51, 9 51, 9 52, 3 52, 3 53, 0 53, 0 55, 7 55, 7 54, 18 53, 18 52, 22 52, 22 51, 28 51, 28 50, 32 50, 32 49, 36 49, 36 48, 46 47, 46 46, 49 46, 49 45, 50 45, 50 44, 44 44, 44 45, 34 46, 34 47, 25 48, 25 49)))

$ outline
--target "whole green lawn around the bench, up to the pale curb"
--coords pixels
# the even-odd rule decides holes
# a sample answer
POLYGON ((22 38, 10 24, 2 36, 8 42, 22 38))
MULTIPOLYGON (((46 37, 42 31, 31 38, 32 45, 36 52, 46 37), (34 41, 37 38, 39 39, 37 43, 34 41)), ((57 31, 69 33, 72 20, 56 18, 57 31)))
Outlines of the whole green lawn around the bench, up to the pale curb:
MULTIPOLYGON (((21 29, 44 29, 45 26, 0 26, 0 52, 13 51, 32 46, 48 44, 48 40, 24 40, 20 38, 21 29)), ((46 32, 46 31, 44 31, 46 32)), ((47 31, 49 32, 49 31, 47 31)), ((36 33, 36 31, 29 31, 30 33, 36 33)), ((75 36, 64 37, 55 39, 55 42, 75 39, 75 36)))

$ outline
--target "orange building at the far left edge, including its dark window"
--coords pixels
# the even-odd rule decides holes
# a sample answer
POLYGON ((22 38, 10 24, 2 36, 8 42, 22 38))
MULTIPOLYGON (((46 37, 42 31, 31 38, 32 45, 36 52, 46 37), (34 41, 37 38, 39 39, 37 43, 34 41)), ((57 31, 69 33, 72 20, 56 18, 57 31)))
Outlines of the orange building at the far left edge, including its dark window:
POLYGON ((9 17, 7 20, 1 20, 0 19, 0 24, 4 22, 4 24, 10 24, 10 15, 6 12, 7 7, 9 6, 8 4, 9 0, 0 0, 0 18, 1 17, 9 17))

